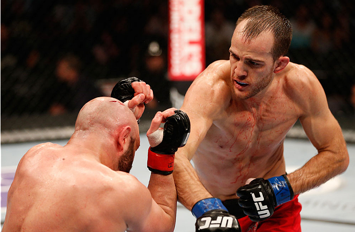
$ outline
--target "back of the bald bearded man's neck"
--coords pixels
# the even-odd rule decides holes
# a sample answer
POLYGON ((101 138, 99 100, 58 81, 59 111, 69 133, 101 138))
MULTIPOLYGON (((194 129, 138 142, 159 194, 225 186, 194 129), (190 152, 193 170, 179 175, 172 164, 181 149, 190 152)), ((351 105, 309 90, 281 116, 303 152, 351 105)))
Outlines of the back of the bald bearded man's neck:
POLYGON ((107 134, 76 131, 65 146, 74 146, 87 156, 92 156, 98 162, 114 169, 118 154, 115 139, 107 134))

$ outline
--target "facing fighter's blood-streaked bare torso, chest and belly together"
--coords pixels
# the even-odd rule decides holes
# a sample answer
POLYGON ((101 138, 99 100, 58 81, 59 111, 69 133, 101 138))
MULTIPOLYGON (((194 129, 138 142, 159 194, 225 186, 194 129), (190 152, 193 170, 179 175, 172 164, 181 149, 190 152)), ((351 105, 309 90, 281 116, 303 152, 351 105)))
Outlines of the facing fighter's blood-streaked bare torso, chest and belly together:
POLYGON ((248 178, 282 172, 282 143, 298 119, 297 112, 283 99, 250 110, 231 107, 215 120, 193 157, 209 191, 227 196, 248 178))

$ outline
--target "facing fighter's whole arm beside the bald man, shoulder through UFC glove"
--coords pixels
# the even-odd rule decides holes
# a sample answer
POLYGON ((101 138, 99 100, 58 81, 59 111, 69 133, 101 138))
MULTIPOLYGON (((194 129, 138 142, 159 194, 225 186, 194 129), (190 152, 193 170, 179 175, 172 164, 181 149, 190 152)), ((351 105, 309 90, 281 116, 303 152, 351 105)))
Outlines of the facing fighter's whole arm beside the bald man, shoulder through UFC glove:
MULTIPOLYGON (((229 63, 228 63, 229 64, 229 63)), ((237 219, 228 213, 220 199, 214 198, 200 182, 190 163, 213 120, 224 116, 230 103, 230 89, 220 72, 225 61, 210 65, 192 83, 182 110, 191 121, 191 133, 185 147, 176 153, 174 180, 180 202, 197 218, 196 231, 240 231, 237 219)), ((213 164, 211 164, 213 165, 213 164)))

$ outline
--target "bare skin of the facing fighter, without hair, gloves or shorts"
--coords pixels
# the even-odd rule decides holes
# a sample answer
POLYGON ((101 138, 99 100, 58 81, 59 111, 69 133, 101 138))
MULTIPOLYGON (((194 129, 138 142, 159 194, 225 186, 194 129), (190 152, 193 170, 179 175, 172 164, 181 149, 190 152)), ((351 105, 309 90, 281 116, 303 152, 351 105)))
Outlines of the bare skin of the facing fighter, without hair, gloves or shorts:
POLYGON ((237 198, 236 190, 249 178, 285 174, 283 142, 298 119, 319 154, 287 175, 295 195, 348 166, 340 126, 316 76, 289 57, 274 61, 272 33, 264 31, 246 41, 244 25, 235 29, 230 60, 207 67, 181 108, 190 118, 191 133, 175 155, 174 181, 188 209, 212 196, 237 198))

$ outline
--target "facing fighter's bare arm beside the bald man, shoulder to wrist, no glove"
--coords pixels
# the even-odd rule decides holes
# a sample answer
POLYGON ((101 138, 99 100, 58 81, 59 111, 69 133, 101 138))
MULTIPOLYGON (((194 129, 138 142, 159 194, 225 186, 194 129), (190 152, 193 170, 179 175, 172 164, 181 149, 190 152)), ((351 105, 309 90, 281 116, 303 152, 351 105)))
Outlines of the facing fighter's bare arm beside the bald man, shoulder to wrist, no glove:
POLYGON ((181 108, 189 115, 191 133, 186 146, 176 152, 173 175, 179 201, 189 210, 199 200, 212 197, 199 181, 190 160, 205 138, 213 120, 222 115, 221 112, 230 100, 227 84, 211 74, 217 73, 217 69, 216 63, 212 64, 194 80, 181 108))

